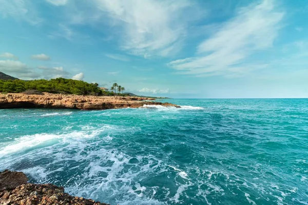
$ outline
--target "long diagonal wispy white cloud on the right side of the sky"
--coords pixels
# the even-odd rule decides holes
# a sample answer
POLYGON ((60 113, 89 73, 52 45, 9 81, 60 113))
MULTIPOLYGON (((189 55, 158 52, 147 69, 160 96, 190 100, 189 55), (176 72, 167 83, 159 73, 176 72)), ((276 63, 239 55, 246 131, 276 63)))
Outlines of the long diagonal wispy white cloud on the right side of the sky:
POLYGON ((241 64, 245 63, 247 57, 272 47, 281 28, 283 14, 276 11, 271 0, 241 8, 234 18, 197 47, 196 57, 178 59, 168 65, 176 69, 178 74, 198 76, 242 72, 244 68, 241 64))

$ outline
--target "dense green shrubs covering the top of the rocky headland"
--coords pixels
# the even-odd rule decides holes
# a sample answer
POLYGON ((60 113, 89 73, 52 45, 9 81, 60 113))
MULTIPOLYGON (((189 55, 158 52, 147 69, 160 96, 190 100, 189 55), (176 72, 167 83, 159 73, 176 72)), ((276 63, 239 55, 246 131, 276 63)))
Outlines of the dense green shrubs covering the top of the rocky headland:
POLYGON ((48 93, 75 95, 115 95, 115 93, 101 90, 98 86, 99 85, 97 83, 89 84, 81 80, 65 78, 56 78, 50 80, 0 80, 0 92, 2 93, 20 93, 26 90, 38 90, 48 93))

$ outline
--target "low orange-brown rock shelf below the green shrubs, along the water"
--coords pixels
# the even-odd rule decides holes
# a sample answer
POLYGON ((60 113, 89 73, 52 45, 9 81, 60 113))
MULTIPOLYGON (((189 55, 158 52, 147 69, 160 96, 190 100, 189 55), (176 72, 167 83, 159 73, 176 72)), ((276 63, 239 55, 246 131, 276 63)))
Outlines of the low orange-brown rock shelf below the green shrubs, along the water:
POLYGON ((117 108, 140 108, 143 105, 173 106, 145 97, 82 96, 50 94, 28 95, 22 93, 0 94, 0 109, 6 108, 70 108, 80 110, 106 110, 117 108))

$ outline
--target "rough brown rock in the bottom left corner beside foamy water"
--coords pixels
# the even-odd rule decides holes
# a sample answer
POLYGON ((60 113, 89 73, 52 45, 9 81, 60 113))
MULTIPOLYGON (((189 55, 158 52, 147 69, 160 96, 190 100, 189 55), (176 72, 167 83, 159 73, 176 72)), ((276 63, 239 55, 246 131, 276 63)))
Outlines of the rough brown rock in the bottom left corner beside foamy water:
POLYGON ((0 172, 0 204, 49 205, 84 204, 108 205, 83 197, 73 197, 64 193, 63 187, 55 185, 36 185, 27 183, 28 178, 22 172, 0 172))

